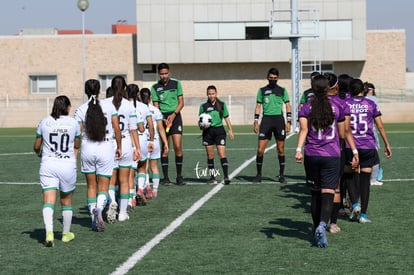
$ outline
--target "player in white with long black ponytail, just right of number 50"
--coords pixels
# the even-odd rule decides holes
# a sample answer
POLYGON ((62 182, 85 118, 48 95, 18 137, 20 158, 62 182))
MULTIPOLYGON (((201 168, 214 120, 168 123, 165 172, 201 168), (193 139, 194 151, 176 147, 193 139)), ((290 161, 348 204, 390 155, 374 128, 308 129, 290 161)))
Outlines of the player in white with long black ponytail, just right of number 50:
POLYGON ((98 99, 101 86, 96 79, 85 82, 88 102, 81 105, 75 118, 82 129, 81 172, 86 175, 87 204, 92 230, 105 229, 102 210, 106 206, 114 159, 122 155, 118 113, 110 101, 98 99), (113 138, 116 140, 116 150, 113 138), (97 186, 98 185, 98 186, 97 186))

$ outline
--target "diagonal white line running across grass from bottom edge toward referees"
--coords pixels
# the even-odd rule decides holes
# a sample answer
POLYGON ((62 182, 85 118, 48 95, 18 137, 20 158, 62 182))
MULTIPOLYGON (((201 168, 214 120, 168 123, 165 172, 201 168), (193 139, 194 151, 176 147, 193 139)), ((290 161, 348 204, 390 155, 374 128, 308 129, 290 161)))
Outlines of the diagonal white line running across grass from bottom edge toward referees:
MULTIPOLYGON (((290 138, 294 134, 289 134, 286 139, 290 138)), ((266 148, 265 153, 273 148, 276 147, 276 144, 269 146, 266 148)), ((246 160, 242 165, 240 165, 236 170, 234 170, 230 175, 229 178, 234 178, 240 171, 246 168, 250 163, 252 163, 256 159, 256 156, 246 160)), ((175 231, 187 218, 193 215, 201 206, 203 206, 211 197, 213 197, 218 191, 223 188, 223 184, 218 184, 214 187, 210 192, 205 194, 201 199, 199 199, 196 203, 194 203, 187 211, 185 211, 181 216, 176 218, 172 223, 170 223, 164 230, 161 231, 158 235, 156 235, 152 240, 147 242, 144 246, 142 246, 137 252, 132 254, 128 260, 119 266, 112 274, 126 274, 131 268, 133 268, 142 258, 147 255, 151 249, 153 249, 157 244, 159 244, 163 239, 165 239, 168 235, 175 231)))

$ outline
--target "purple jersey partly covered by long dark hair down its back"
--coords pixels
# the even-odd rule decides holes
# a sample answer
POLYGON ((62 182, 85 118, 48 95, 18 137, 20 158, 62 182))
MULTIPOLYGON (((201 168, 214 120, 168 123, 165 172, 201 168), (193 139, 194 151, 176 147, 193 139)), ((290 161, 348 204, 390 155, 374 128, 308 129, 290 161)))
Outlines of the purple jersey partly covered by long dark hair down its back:
POLYGON ((308 134, 306 136, 305 150, 306 156, 314 157, 340 157, 341 148, 339 144, 338 122, 345 120, 344 108, 331 101, 332 111, 335 115, 335 120, 332 125, 326 130, 316 130, 310 124, 309 113, 311 111, 311 103, 305 103, 299 111, 299 118, 305 117, 308 119, 308 134))

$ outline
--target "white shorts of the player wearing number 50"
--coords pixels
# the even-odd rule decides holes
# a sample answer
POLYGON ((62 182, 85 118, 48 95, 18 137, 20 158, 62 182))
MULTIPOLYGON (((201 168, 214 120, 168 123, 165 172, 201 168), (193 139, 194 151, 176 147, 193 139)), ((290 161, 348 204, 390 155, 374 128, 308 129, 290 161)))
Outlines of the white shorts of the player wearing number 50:
POLYGON ((63 193, 75 190, 76 161, 42 160, 39 170, 40 184, 43 190, 57 189, 63 193))

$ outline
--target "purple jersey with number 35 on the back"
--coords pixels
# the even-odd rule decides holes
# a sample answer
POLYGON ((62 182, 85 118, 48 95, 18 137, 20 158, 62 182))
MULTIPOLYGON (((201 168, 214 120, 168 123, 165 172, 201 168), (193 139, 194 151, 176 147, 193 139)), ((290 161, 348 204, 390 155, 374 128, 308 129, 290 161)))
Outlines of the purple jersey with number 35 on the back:
MULTIPOLYGON (((376 149, 374 123, 381 115, 378 105, 365 97, 351 97, 346 100, 351 114, 351 129, 358 149, 376 149)), ((349 148, 349 145, 346 144, 349 148)))

